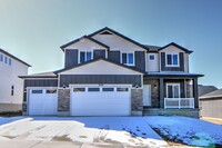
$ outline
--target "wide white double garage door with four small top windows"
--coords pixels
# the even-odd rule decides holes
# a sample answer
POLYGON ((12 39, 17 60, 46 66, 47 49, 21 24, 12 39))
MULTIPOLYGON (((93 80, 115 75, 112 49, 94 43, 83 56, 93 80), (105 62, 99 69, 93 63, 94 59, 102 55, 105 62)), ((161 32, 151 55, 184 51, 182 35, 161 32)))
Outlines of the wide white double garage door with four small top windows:
POLYGON ((73 87, 70 105, 72 116, 129 116, 130 87, 73 87))

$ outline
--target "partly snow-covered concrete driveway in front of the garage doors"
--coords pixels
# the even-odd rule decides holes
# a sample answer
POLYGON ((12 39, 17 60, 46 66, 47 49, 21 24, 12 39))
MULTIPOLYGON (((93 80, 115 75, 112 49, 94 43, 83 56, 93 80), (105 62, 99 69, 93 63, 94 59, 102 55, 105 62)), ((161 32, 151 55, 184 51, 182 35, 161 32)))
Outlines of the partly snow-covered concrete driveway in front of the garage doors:
POLYGON ((0 126, 3 148, 165 147, 142 117, 30 117, 0 126))

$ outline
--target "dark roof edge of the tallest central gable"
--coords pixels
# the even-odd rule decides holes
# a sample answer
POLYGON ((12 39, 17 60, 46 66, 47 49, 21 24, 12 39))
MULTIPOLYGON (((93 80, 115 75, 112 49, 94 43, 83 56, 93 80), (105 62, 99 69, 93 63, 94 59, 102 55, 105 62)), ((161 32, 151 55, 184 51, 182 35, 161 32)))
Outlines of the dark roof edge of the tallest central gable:
POLYGON ((103 31, 105 31, 105 30, 107 30, 107 31, 110 31, 110 32, 112 32, 112 33, 114 33, 114 34, 117 34, 117 36, 119 36, 119 37, 121 37, 121 38, 123 38, 123 39, 125 39, 125 40, 128 40, 128 41, 130 41, 130 42, 132 42, 132 43, 134 43, 134 45, 137 45, 137 46, 139 46, 139 47, 141 47, 141 48, 143 48, 143 49, 145 49, 145 50, 149 50, 148 47, 145 47, 145 46, 143 46, 143 45, 141 45, 141 43, 139 43, 139 42, 137 42, 137 41, 134 41, 134 40, 132 40, 132 39, 125 37, 125 36, 123 36, 123 34, 121 34, 121 33, 119 33, 119 32, 117 32, 117 31, 114 31, 114 30, 112 30, 112 29, 110 29, 110 28, 108 28, 108 27, 104 27, 104 28, 102 28, 102 29, 100 29, 100 30, 98 30, 98 31, 95 31, 95 32, 89 34, 89 37, 93 37, 93 36, 95 36, 95 34, 98 34, 98 33, 100 33, 100 32, 103 32, 103 31))

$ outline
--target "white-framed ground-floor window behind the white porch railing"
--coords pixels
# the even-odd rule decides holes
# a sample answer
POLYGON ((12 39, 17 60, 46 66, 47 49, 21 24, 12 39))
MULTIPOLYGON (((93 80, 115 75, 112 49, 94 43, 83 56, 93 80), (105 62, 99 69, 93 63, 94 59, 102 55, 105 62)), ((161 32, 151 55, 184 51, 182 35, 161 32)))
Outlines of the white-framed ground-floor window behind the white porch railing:
POLYGON ((167 83, 167 98, 180 98, 180 83, 167 83))

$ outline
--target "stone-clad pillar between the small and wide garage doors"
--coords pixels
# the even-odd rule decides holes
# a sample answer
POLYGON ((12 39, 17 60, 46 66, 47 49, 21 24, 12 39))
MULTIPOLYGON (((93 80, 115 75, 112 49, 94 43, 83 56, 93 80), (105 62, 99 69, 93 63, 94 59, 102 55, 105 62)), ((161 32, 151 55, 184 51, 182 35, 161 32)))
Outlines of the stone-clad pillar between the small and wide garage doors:
POLYGON ((58 89, 58 116, 70 115, 70 89, 58 89))

